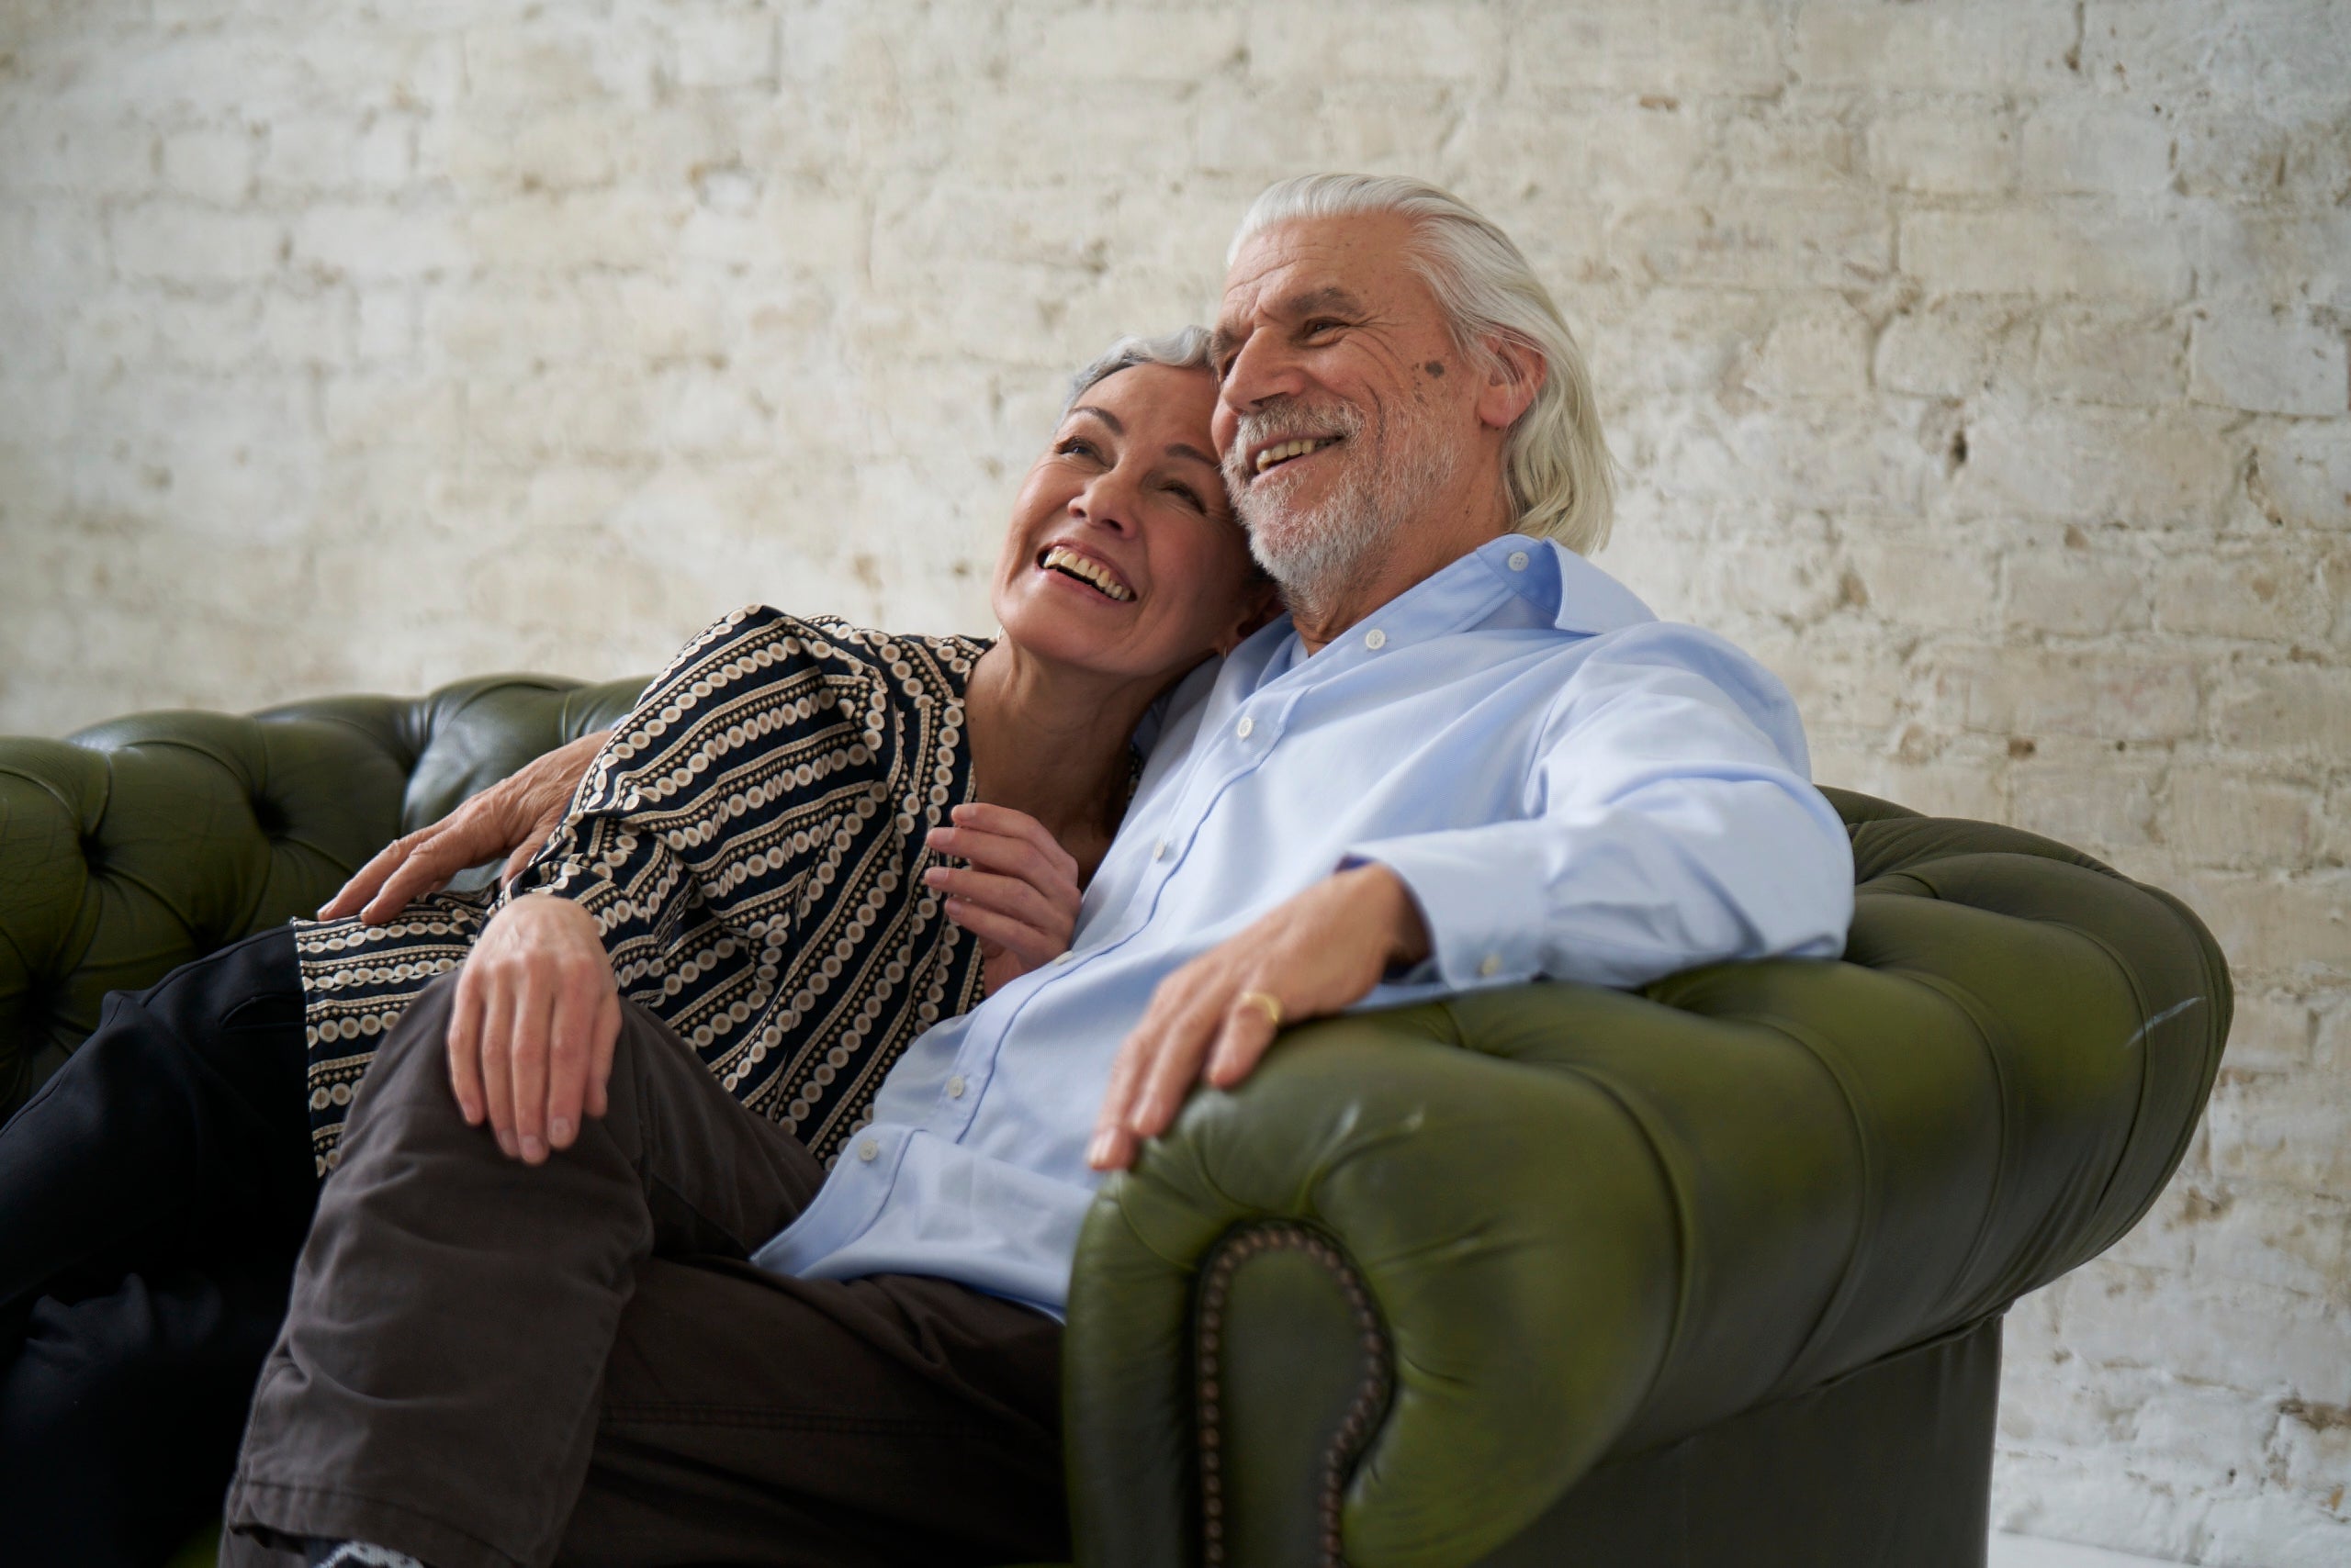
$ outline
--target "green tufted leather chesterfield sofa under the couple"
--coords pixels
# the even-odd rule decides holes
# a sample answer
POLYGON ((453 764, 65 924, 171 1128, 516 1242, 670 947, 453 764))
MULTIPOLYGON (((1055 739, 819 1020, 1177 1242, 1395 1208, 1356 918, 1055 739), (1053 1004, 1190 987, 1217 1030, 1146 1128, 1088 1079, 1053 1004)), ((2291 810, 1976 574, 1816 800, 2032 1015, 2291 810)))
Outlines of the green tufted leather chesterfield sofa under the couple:
MULTIPOLYGON (((0 741, 0 1110, 635 682, 0 741)), ((1293 1030, 1077 1258, 1079 1561, 1984 1561, 2001 1314, 2111 1246, 2229 1027, 2212 938, 2048 839, 1831 792, 1843 961, 1293 1030)), ((5 1194, 0 1194, 5 1201, 5 1194)))

